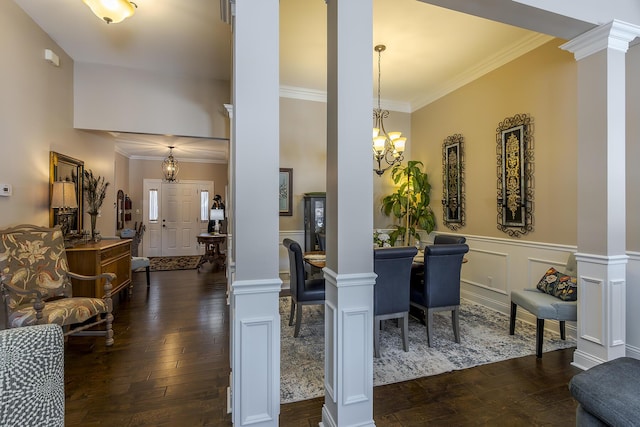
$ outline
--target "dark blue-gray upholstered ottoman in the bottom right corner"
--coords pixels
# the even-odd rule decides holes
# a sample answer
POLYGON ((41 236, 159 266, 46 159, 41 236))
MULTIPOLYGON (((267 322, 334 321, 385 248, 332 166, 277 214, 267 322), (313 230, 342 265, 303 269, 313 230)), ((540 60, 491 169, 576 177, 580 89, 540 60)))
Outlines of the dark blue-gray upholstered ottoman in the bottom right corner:
POLYGON ((640 423, 640 360, 621 357, 594 366, 569 382, 578 401, 578 426, 637 426, 640 423))

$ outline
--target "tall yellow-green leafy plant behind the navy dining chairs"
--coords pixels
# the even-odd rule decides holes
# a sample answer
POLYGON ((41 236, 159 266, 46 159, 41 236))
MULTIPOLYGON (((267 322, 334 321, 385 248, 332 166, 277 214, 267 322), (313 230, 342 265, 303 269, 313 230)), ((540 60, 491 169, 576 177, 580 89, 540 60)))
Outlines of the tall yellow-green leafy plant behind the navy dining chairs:
POLYGON ((389 233, 392 246, 395 246, 398 237, 402 237, 404 246, 411 246, 411 237, 420 239, 418 229, 427 233, 435 229, 435 215, 429 206, 431 184, 421 167, 422 162, 410 160, 406 166, 396 164, 391 170, 391 178, 398 187, 394 193, 382 199, 381 210, 386 216, 393 215, 400 222, 389 233))

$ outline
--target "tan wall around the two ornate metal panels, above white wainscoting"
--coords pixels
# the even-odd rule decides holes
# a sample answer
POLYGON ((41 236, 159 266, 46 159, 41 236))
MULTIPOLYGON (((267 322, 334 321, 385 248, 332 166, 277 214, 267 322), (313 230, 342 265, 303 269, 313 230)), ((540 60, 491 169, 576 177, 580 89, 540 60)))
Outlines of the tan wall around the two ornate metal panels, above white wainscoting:
POLYGON ((576 63, 553 40, 415 112, 413 157, 427 166, 437 231, 442 222, 442 143, 465 139, 466 227, 459 232, 508 236, 497 228, 496 128, 528 113, 534 121, 534 231, 523 240, 576 244, 576 63))

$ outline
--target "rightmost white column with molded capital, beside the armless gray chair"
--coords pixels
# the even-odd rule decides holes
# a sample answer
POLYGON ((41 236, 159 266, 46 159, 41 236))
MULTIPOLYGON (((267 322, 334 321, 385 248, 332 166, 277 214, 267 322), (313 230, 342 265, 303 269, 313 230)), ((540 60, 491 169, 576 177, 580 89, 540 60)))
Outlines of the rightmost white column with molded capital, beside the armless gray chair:
POLYGON ((587 369, 625 355, 625 54, 619 21, 561 46, 578 61, 578 349, 587 369))

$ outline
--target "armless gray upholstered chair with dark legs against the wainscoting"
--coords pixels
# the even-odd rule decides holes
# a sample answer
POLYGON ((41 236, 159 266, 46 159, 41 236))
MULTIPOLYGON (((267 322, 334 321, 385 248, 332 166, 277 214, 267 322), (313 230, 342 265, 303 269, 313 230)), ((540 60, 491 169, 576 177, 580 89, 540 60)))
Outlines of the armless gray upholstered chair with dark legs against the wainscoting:
MULTIPOLYGON (((551 272, 558 273, 555 269, 550 269, 547 271, 547 274, 551 272)), ((547 274, 545 277, 547 277, 547 274)), ((576 258, 573 253, 569 255, 565 266, 565 272, 561 276, 566 277, 567 275, 574 278, 578 275, 576 258)), ((560 275, 555 274, 554 277, 556 276, 560 275)), ((542 357, 542 338, 544 336, 545 319, 558 321, 560 324, 560 338, 563 340, 566 339, 565 321, 569 320, 575 322, 578 319, 577 301, 563 301, 556 296, 542 292, 537 287, 511 291, 509 335, 513 335, 515 333, 516 312, 518 310, 518 306, 536 316, 536 357, 538 358, 542 357)))

